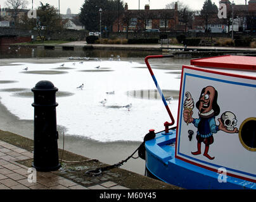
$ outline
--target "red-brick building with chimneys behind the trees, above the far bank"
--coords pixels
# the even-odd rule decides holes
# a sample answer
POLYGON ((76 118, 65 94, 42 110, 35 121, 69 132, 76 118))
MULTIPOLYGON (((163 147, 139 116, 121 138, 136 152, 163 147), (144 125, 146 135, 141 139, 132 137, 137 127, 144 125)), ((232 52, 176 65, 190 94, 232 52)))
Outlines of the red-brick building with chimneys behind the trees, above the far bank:
POLYGON ((177 3, 174 9, 150 9, 146 4, 144 9, 125 9, 120 13, 119 19, 113 23, 113 32, 134 32, 148 29, 159 29, 160 32, 173 32, 180 28, 177 3))

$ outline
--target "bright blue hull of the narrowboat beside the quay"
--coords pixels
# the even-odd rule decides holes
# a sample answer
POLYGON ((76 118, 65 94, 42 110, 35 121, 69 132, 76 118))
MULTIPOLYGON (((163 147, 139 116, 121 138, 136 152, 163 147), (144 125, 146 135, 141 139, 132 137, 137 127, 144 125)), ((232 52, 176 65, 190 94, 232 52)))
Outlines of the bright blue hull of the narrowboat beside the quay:
POLYGON ((170 133, 157 133, 145 143, 146 170, 157 179, 185 189, 256 189, 254 182, 222 176, 175 158, 176 130, 170 133))

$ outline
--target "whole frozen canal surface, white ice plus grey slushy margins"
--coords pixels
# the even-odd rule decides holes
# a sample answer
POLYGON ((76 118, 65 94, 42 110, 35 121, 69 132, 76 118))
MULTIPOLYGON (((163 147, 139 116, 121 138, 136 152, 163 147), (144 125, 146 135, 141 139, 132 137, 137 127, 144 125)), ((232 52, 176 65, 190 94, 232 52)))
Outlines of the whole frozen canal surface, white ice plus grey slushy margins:
MULTIPOLYGON (((11 119, 6 124, 3 121, 0 129, 33 138, 31 88, 48 80, 58 88, 59 148, 65 133, 65 150, 108 164, 124 160, 138 148, 149 129, 162 131, 163 123, 170 121, 170 117, 144 58, 117 59, 117 55, 112 61, 105 57, 83 63, 67 57, 14 59, 15 62, 5 59, 0 66, 1 104, 18 120, 11 119), (81 90, 77 87, 82 83, 81 90), (100 103, 104 99, 105 105, 100 103), (123 107, 127 104, 132 104, 131 109, 123 107)), ((157 59, 150 64, 165 97, 174 97, 169 107, 177 119, 181 67, 189 64, 189 60, 157 59)), ((144 174, 144 160, 131 159, 121 168, 144 174)))

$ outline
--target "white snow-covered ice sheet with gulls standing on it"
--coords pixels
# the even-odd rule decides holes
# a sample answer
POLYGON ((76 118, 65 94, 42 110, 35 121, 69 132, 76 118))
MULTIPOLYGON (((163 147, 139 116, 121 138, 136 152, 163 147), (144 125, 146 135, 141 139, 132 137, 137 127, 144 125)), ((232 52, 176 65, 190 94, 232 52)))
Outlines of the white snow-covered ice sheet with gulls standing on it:
MULTIPOLYGON (((18 92, 3 89, 31 89, 41 80, 49 80, 60 92, 70 92, 72 96, 57 97, 57 124, 65 126, 67 134, 79 135, 96 141, 143 141, 148 129, 162 131, 163 122, 170 118, 158 99, 146 99, 127 96, 127 92, 155 90, 155 84, 144 64, 129 61, 84 61, 74 66, 73 61, 65 62, 65 74, 49 74, 49 71, 59 71, 62 63, 32 64, 19 63, 13 66, 1 66, 4 81, 0 83, 1 102, 12 114, 20 119, 34 119, 34 108, 31 96, 16 96, 18 92), (94 71, 96 66, 111 71, 94 71), (33 74, 24 73, 28 67, 33 74), (40 74, 37 74, 39 71, 40 74), (45 71, 45 74, 44 74, 45 71), (77 86, 84 83, 83 90, 77 86), (106 92, 113 92, 106 95, 106 92), (13 93, 16 93, 13 96, 13 93), (105 106, 99 102, 107 99, 105 106), (122 107, 132 104, 127 110, 122 107)), ((97 69, 96 69, 97 70, 97 69)), ((99 69, 100 70, 100 69, 99 69)), ((60 69, 63 71, 63 69, 60 69)), ((166 90, 179 90, 180 81, 175 74, 165 74, 162 69, 154 69, 158 83, 166 90)), ((155 96, 155 95, 154 95, 155 96)), ((177 99, 170 104, 173 116, 177 117, 177 99)))

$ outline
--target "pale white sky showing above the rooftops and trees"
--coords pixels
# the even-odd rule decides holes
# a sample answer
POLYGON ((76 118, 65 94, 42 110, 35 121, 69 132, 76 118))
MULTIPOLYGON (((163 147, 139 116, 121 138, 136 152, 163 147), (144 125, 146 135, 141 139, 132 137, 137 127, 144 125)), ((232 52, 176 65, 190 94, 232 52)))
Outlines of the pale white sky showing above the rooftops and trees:
MULTIPOLYGON (((5 7, 5 1, 6 0, 0 0, 1 8, 5 7)), ((29 1, 29 8, 31 8, 32 0, 29 1)), ((59 0, 34 0, 34 8, 39 6, 40 1, 42 3, 49 3, 56 8, 58 8, 58 2, 59 0)), ((124 3, 128 4, 129 9, 144 9, 145 4, 150 4, 151 9, 162 9, 165 8, 166 4, 172 3, 176 0, 124 0, 124 3), (140 6, 139 6, 140 5, 140 6)), ((203 7, 203 2, 205 0, 180 0, 185 5, 188 5, 189 8, 199 10, 203 7)), ((229 0, 231 1, 231 0, 229 0)), ((249 0, 247 0, 248 3, 249 0)), ((213 3, 215 3, 219 7, 219 0, 212 0, 213 3)), ((60 12, 62 14, 67 13, 67 9, 70 8, 71 12, 74 14, 77 14, 80 12, 80 8, 82 7, 82 4, 84 3, 84 0, 60 0, 60 12)), ((235 4, 245 4, 245 0, 234 0, 235 4)))

